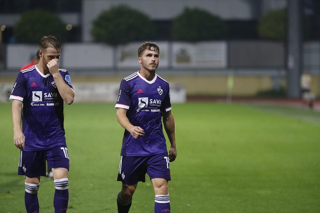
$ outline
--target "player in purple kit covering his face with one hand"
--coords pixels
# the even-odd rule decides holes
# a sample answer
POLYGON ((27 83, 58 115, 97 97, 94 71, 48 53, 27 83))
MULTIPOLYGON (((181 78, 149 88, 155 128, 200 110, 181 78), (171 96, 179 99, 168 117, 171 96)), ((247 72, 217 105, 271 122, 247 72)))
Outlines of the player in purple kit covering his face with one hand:
POLYGON ((68 206, 69 155, 63 105, 73 103, 74 91, 68 72, 59 69, 60 52, 54 36, 42 37, 39 63, 19 72, 10 95, 14 144, 20 149, 18 175, 25 176, 27 213, 39 212, 37 193, 40 176, 46 177, 46 160, 53 172, 55 213, 65 213, 68 206))

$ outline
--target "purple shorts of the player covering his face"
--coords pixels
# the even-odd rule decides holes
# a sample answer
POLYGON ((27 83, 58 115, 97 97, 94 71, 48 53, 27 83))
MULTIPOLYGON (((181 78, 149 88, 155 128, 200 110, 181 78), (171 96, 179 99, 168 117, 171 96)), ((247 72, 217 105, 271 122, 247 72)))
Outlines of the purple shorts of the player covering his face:
POLYGON ((49 150, 21 151, 18 175, 30 178, 46 177, 46 160, 51 168, 66 168, 69 170, 69 154, 67 147, 54 147, 49 150))

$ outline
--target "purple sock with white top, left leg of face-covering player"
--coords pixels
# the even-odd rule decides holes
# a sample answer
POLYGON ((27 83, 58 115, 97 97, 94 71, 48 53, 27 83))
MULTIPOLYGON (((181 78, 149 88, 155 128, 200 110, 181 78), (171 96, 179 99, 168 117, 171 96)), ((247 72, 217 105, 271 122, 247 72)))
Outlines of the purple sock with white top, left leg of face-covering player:
POLYGON ((27 213, 38 213, 39 212, 39 201, 38 201, 38 190, 39 184, 24 183, 24 203, 26 206, 27 213))

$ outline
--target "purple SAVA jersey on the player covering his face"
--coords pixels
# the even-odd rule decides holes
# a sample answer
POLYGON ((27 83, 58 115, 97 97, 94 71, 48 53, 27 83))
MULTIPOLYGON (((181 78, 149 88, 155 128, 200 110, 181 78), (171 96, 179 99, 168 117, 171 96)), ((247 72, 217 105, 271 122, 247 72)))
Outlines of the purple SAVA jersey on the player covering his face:
MULTIPOLYGON (((59 69, 65 83, 72 89, 66 70, 59 69)), ((22 131, 24 151, 38 151, 65 146, 64 100, 51 74, 42 74, 37 66, 20 71, 10 100, 23 102, 22 131)))

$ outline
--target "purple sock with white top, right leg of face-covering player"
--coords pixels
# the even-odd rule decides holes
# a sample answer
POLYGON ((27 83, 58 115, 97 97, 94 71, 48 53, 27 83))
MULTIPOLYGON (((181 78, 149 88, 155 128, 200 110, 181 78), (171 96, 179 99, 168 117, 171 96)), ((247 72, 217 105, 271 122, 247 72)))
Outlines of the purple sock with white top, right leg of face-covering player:
POLYGON ((68 208, 69 190, 68 190, 68 179, 57 179, 54 180, 54 186, 56 191, 53 198, 53 206, 55 213, 65 213, 68 208))

